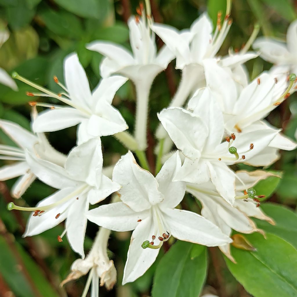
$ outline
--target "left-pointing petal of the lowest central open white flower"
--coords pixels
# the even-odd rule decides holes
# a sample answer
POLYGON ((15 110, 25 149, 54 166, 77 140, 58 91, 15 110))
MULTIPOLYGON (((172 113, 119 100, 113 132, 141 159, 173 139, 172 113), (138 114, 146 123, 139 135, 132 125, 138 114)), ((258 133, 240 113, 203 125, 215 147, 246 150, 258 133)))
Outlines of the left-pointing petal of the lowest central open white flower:
POLYGON ((144 220, 148 216, 149 211, 135 212, 123 202, 99 206, 91 209, 87 215, 89 221, 113 231, 134 230, 140 224, 138 220, 144 220))

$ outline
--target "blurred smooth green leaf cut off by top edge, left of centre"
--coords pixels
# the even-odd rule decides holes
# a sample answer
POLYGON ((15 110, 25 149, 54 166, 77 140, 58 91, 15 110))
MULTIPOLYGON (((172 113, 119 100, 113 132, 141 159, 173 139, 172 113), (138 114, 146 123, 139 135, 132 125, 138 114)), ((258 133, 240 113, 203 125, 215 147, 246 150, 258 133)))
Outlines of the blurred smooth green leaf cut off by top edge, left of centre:
POLYGON ((83 18, 101 19, 108 10, 108 0, 55 0, 55 2, 83 18))

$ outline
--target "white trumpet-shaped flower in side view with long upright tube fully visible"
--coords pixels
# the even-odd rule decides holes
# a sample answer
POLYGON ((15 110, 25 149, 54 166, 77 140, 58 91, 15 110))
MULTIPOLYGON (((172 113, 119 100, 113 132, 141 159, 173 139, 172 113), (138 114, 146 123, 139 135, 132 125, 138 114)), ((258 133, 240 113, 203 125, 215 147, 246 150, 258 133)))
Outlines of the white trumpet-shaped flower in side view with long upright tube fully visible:
POLYGON ((149 106, 149 92, 154 78, 165 70, 174 55, 167 46, 163 46, 157 53, 155 34, 151 32, 142 10, 142 17, 131 17, 128 20, 130 45, 132 54, 124 47, 106 41, 94 41, 87 45, 105 56, 101 65, 102 77, 117 73, 128 77, 136 88, 136 119, 135 138, 139 149, 146 149, 147 113, 149 106))

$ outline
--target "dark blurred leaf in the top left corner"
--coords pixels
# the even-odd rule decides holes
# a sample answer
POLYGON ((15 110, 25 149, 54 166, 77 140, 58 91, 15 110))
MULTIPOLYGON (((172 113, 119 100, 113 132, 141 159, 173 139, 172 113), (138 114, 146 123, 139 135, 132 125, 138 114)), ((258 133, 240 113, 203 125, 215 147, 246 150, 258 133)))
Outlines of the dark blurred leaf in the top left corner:
POLYGON ((5 8, 7 22, 14 30, 28 25, 35 15, 34 8, 30 7, 27 1, 17 0, 16 2, 17 5, 5 8))

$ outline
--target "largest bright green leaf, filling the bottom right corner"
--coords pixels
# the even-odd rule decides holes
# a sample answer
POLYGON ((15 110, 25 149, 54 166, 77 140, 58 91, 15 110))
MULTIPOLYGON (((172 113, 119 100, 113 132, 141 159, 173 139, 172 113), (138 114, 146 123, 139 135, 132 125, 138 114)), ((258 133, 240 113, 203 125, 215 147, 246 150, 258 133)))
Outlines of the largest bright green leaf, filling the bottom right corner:
POLYGON ((231 248, 237 264, 225 257, 233 276, 255 297, 297 296, 297 251, 273 234, 245 235, 257 252, 231 248))

